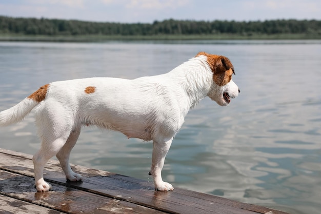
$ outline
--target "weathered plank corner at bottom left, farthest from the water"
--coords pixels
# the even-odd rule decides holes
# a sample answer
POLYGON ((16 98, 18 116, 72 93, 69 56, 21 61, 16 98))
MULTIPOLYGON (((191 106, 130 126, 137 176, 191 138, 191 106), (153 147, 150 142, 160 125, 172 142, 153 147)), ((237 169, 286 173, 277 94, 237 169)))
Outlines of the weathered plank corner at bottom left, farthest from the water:
POLYGON ((12 214, 62 214, 53 209, 10 198, 0 194, 0 213, 12 214))

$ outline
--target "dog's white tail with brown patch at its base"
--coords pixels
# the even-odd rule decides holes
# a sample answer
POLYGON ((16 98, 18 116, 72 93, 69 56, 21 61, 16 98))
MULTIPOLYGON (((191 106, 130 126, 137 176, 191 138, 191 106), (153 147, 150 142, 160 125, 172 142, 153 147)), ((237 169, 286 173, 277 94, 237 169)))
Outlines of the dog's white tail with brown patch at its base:
POLYGON ((17 105, 0 112, 0 126, 8 126, 19 121, 22 121, 30 111, 45 100, 49 84, 40 87, 32 93, 28 98, 17 105))

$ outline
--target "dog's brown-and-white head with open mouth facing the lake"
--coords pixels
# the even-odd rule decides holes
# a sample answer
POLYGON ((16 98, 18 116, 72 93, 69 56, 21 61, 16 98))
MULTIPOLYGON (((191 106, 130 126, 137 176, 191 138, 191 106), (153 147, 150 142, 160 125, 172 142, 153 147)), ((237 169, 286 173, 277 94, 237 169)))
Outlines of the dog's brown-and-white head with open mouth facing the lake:
POLYGON ((195 57, 204 57, 213 73, 212 86, 208 92, 209 98, 220 106, 227 106, 231 102, 231 98, 236 98, 240 90, 232 81, 234 67, 231 61, 220 55, 199 52, 195 57))

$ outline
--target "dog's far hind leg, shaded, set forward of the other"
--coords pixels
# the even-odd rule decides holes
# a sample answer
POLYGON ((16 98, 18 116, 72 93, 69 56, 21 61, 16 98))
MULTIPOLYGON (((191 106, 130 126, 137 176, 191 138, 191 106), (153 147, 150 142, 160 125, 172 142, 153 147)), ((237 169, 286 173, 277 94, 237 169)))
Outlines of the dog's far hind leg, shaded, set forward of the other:
POLYGON ((80 174, 77 174, 72 171, 69 164, 69 155, 70 155, 71 149, 76 144, 80 132, 81 132, 81 125, 77 126, 71 131, 67 142, 65 143, 63 148, 61 148, 61 150, 56 154, 56 157, 59 160, 60 165, 62 166, 66 174, 66 179, 68 181, 81 181, 83 179, 83 177, 80 174))

